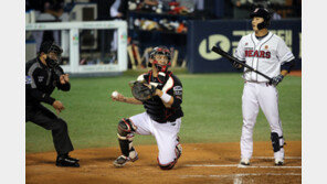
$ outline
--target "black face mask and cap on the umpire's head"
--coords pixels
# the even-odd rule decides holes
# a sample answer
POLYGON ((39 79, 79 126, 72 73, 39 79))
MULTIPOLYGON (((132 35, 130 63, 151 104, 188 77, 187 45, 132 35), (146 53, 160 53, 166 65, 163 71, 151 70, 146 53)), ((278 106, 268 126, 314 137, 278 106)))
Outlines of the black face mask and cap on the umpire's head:
POLYGON ((55 44, 54 42, 43 42, 41 44, 39 55, 42 52, 46 54, 45 62, 49 67, 55 68, 56 66, 59 66, 63 50, 57 44, 55 44))

